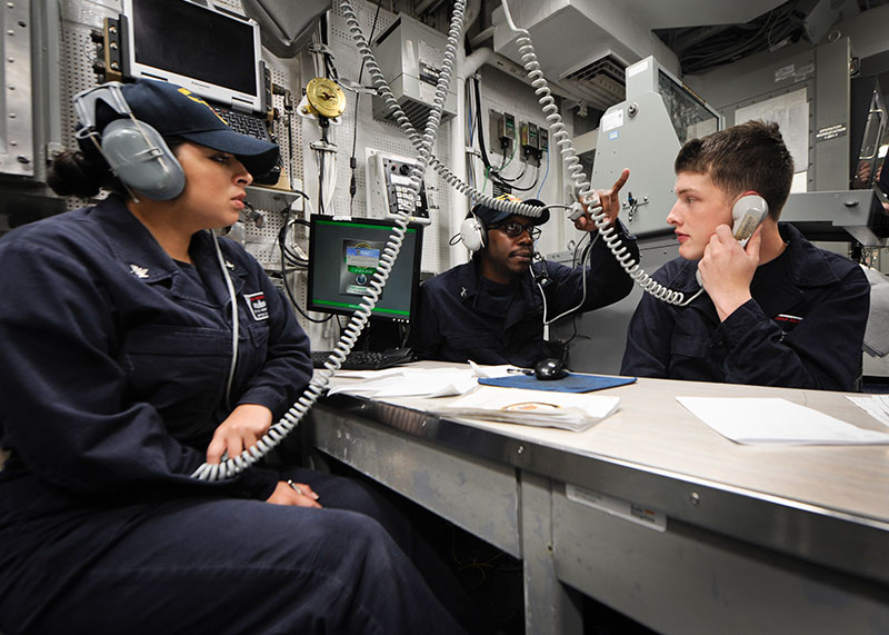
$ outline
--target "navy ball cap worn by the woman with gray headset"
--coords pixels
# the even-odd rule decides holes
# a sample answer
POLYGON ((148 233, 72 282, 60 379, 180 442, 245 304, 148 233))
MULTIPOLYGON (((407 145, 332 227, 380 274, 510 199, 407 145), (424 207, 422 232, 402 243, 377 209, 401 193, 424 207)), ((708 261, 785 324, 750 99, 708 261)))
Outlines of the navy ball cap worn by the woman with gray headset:
MULTIPOLYGON (((121 87, 133 116, 161 137, 187 141, 228 152, 238 158, 251 175, 263 175, 278 161, 278 146, 232 130, 228 122, 199 96, 166 81, 139 79, 121 87)), ((102 130, 121 116, 99 102, 96 127, 102 130)))

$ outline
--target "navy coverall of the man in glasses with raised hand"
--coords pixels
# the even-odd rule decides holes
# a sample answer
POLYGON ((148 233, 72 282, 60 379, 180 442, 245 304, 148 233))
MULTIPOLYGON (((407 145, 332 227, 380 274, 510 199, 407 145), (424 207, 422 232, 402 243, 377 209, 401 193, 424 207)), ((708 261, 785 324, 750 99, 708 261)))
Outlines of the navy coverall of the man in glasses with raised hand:
MULTIPOLYGON (((621 241, 638 259, 636 241, 622 224, 618 227, 621 241)), ((632 290, 632 280, 605 242, 597 240, 591 249, 587 298, 577 312, 608 306, 632 290)), ((532 271, 510 287, 496 285, 482 278, 473 259, 431 278, 420 288, 411 346, 428 359, 533 366, 548 356, 540 288, 550 320, 580 301, 583 271, 546 260, 535 262, 532 271)))

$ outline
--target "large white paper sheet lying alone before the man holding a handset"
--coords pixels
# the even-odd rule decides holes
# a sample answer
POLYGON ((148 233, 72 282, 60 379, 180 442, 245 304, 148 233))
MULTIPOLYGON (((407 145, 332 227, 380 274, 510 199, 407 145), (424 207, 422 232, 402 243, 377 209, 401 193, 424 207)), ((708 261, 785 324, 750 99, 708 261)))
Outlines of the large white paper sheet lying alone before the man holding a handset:
POLYGON ((677 397, 723 437, 746 445, 882 445, 889 434, 858 428, 778 398, 677 397))

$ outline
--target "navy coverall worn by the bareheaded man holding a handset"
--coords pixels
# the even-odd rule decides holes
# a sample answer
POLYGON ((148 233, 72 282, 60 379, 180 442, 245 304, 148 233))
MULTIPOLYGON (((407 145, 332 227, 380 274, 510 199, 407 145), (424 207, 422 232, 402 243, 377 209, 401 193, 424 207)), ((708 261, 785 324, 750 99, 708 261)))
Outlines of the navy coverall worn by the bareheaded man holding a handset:
MULTIPOLYGON (((861 268, 779 224, 785 251, 760 265, 752 299, 719 321, 702 294, 688 307, 646 295, 630 320, 621 375, 788 388, 855 390, 870 287, 861 268)), ((677 258, 653 276, 698 290, 697 261, 677 258)))

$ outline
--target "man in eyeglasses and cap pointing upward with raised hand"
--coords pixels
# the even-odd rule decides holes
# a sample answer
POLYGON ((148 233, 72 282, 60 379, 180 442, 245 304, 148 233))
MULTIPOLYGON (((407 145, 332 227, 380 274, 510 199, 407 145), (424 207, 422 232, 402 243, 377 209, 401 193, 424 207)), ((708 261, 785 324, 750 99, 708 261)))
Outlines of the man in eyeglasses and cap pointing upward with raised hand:
MULTIPOLYGON (((620 208, 617 190, 626 176, 615 183, 617 189, 597 192, 612 222, 620 208)), ((521 202, 510 195, 501 198, 507 197, 521 202)), ((535 199, 525 202, 543 207, 535 199)), ((595 241, 588 259, 579 258, 586 268, 536 257, 535 240, 547 220, 548 209, 539 217, 485 205, 472 209, 460 235, 473 251, 472 260, 420 288, 418 319, 411 325, 411 346, 419 357, 531 367, 546 357, 562 357, 543 341, 545 323, 610 305, 630 292, 632 281, 603 240, 595 241)), ((596 231, 589 212, 575 226, 596 231)), ((636 241, 626 228, 618 224, 616 229, 638 258, 636 241)))

